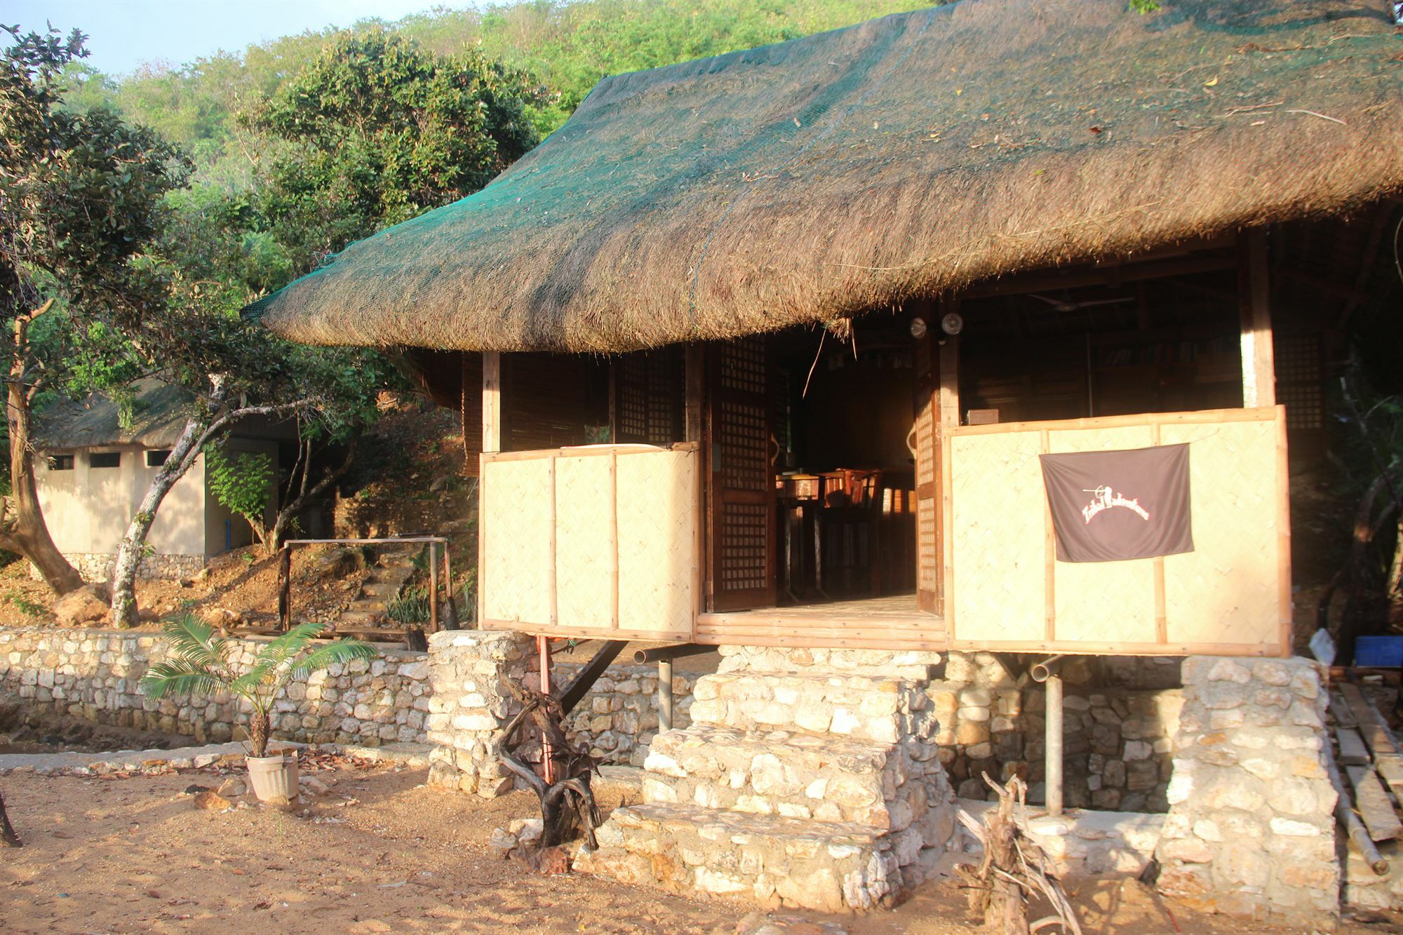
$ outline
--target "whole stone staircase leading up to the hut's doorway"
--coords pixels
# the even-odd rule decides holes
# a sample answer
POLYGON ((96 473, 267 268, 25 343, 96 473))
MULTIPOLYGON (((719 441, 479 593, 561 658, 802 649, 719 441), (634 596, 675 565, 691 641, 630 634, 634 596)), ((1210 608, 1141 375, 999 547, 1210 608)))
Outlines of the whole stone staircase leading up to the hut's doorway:
POLYGON ((955 835, 926 684, 939 656, 721 647, 643 804, 575 868, 829 913, 899 900, 955 835))

